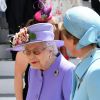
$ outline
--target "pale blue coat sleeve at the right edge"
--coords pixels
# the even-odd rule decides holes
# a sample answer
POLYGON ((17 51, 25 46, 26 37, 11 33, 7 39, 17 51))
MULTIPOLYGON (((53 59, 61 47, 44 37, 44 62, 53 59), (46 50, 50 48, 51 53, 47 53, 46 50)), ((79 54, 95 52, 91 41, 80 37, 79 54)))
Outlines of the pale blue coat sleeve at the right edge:
POLYGON ((88 100, 100 100, 100 66, 90 72, 87 79, 88 100))

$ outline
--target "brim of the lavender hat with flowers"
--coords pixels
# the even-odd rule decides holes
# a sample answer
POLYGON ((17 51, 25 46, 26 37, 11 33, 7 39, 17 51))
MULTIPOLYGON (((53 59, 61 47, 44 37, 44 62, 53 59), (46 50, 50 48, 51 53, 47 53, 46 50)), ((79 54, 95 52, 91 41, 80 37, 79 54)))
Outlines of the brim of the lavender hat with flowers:
MULTIPOLYGON (((62 47, 64 45, 64 41, 63 40, 51 40, 51 41, 54 41, 56 43, 56 46, 58 48, 60 48, 60 47, 62 47)), ((47 41, 31 41, 31 42, 28 42, 28 43, 25 43, 25 44, 17 45, 17 46, 12 47, 12 48, 8 48, 7 50, 8 51, 23 51, 24 50, 24 46, 26 44, 29 44, 29 43, 38 43, 38 42, 47 42, 47 41)))

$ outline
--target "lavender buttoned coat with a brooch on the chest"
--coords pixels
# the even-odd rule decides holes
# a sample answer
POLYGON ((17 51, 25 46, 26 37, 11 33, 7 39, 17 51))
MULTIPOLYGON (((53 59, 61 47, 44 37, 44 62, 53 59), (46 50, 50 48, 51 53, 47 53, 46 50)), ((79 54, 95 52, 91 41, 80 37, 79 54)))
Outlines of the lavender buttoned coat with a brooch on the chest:
POLYGON ((46 71, 30 68, 26 100, 70 100, 74 67, 60 54, 46 71))

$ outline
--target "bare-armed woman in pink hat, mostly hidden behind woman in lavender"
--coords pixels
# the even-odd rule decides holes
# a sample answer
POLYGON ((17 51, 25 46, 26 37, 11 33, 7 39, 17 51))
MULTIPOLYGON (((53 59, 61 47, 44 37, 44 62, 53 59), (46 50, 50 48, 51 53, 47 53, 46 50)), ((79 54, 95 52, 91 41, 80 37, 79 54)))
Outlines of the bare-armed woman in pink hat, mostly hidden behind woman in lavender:
MULTIPOLYGON (((39 10, 38 12, 36 12, 36 14, 34 15, 33 19, 30 19, 27 24, 26 27, 35 23, 51 23, 54 27, 54 34, 55 37, 54 39, 57 40, 62 40, 62 35, 59 32, 59 25, 57 22, 57 19, 55 17, 52 16, 51 13, 52 7, 48 7, 48 6, 44 6, 41 10, 39 10)), ((20 33, 23 33, 24 28, 20 29, 20 33)), ((66 53, 66 49, 65 47, 61 47, 60 52, 64 55, 64 57, 66 59, 68 59, 69 57, 67 56, 66 53)), ((23 52, 18 52, 17 56, 16 56, 16 62, 15 62, 15 94, 16 94, 16 98, 18 100, 20 100, 20 98, 22 98, 22 89, 23 89, 23 74, 25 72, 25 86, 23 89, 23 99, 25 100, 26 98, 26 94, 27 94, 27 89, 28 89, 28 71, 29 71, 29 66, 27 67, 27 59, 26 57, 24 57, 25 55, 23 54, 23 52), (23 63, 24 62, 24 63, 23 63), (19 81, 19 83, 18 83, 19 81), (19 86, 19 84, 21 84, 19 86)))

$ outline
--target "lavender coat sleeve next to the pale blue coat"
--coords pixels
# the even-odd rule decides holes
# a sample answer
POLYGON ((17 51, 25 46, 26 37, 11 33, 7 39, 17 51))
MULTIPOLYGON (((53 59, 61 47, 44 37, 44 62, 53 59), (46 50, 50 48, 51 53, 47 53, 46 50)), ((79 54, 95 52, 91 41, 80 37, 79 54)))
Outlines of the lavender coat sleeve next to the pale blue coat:
POLYGON ((65 72, 63 78, 63 97, 64 100, 70 100, 71 90, 72 90, 72 75, 73 69, 69 69, 65 72))

